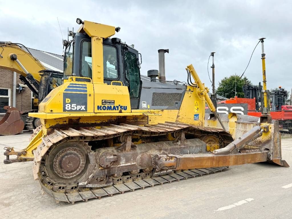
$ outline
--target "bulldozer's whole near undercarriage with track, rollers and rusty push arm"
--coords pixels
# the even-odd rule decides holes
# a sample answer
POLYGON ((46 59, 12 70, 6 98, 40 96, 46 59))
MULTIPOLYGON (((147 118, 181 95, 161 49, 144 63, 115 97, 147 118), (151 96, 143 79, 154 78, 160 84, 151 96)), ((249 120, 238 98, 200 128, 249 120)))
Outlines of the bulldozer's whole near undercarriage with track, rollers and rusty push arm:
POLYGON ((222 129, 173 122, 59 129, 34 150, 34 178, 74 203, 268 160, 261 149, 220 154, 231 142, 222 129))

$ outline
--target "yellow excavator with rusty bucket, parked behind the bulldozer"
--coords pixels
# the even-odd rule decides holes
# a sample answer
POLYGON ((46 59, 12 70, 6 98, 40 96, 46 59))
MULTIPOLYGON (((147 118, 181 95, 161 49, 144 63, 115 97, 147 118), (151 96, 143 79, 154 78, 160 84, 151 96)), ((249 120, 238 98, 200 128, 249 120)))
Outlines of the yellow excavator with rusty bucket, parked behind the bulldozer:
MULTIPOLYGON (((58 84, 62 84, 63 74, 47 70, 39 60, 22 44, 0 41, 0 67, 17 72, 19 79, 28 86, 34 95, 34 105, 38 106, 46 95, 58 84)), ((26 128, 33 131, 40 126, 38 118, 28 117, 27 112, 19 112, 11 106, 4 107, 7 112, 0 121, 0 135, 14 135, 24 128, 21 119, 26 116, 26 128)))

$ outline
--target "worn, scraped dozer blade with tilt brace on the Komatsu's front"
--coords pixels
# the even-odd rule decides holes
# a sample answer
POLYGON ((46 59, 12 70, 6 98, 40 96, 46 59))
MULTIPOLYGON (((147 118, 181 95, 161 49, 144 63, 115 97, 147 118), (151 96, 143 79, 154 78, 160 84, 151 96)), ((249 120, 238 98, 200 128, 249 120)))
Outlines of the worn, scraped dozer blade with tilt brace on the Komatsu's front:
MULTIPOLYGON (((220 114, 220 118, 226 130, 232 135, 234 142, 224 148, 213 151, 215 156, 232 155, 234 153, 242 155, 244 153, 251 153, 252 155, 258 152, 260 154, 259 157, 262 157, 263 154, 261 152, 268 152, 268 162, 289 167, 287 162, 282 160, 281 133, 279 132, 278 120, 272 120, 271 123, 260 123, 262 118, 249 115, 237 115, 235 113, 229 113, 228 115, 220 114)), ((220 124, 215 117, 211 117, 211 114, 206 114, 205 126, 215 128, 220 127, 220 124)))

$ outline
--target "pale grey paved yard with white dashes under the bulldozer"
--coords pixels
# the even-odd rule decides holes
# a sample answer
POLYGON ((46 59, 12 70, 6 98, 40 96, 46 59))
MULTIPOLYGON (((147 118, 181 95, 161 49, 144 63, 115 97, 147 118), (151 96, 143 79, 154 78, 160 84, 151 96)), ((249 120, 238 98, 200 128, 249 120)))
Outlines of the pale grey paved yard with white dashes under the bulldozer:
MULTIPOLYGON (((292 218, 292 168, 271 164, 234 166, 100 200, 56 204, 41 195, 31 162, 2 162, 4 145, 22 149, 29 136, 0 136, 0 218, 292 218)), ((290 165, 291 140, 282 138, 282 156, 290 165)))

